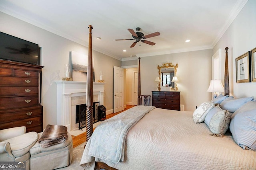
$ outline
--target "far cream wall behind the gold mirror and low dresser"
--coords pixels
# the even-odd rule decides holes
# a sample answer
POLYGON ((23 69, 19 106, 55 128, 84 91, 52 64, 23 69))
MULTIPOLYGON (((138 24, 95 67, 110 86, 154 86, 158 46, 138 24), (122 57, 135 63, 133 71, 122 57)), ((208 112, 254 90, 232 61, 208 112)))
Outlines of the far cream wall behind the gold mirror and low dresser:
MULTIPOLYGON (((202 102, 211 100, 212 94, 206 92, 212 78, 212 49, 142 57, 141 94, 152 95, 156 89, 155 78, 159 76, 157 66, 163 63, 178 63, 176 76, 180 91, 180 104, 185 105, 186 111, 194 111, 202 102)), ((122 62, 122 65, 127 65, 122 62)))

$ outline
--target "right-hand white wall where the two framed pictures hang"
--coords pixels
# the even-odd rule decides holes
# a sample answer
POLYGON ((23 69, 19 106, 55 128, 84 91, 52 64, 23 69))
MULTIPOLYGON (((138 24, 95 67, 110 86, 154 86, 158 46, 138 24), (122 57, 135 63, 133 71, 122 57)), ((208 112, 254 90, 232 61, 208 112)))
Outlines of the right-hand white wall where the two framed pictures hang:
MULTIPOLYGON (((228 47, 228 67, 230 94, 235 98, 254 96, 256 99, 256 82, 236 83, 236 58, 256 47, 256 0, 248 0, 247 4, 232 22, 219 42, 214 53, 222 49, 221 72, 224 73, 225 47, 228 47)), ((222 74, 224 82, 224 74, 222 74)))

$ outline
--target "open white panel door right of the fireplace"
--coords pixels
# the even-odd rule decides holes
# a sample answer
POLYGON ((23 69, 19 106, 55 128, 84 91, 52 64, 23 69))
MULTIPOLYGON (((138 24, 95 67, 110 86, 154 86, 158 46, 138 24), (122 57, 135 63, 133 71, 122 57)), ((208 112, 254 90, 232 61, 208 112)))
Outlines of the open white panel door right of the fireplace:
POLYGON ((114 66, 114 113, 124 110, 124 69, 114 66))

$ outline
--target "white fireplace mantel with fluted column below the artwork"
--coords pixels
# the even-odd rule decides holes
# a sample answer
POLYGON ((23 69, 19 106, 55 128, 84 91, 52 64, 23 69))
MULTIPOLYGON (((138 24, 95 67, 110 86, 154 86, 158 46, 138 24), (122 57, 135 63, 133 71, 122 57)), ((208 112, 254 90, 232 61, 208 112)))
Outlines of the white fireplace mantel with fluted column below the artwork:
MULTIPOLYGON (((64 125, 71 131, 71 98, 74 96, 86 96, 86 82, 78 81, 54 81, 57 84, 57 125, 64 125)), ((104 105, 104 84, 93 83, 94 99, 104 105)), ((86 101, 85 101, 86 102, 86 101)))

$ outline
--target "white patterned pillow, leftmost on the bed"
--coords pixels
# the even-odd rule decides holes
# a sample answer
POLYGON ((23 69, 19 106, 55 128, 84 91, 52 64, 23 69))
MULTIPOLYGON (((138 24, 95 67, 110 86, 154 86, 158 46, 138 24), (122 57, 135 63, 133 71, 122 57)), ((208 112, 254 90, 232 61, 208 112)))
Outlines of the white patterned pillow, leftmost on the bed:
POLYGON ((196 108, 196 110, 193 113, 193 120, 195 123, 201 123, 204 121, 204 118, 206 117, 207 113, 214 107, 214 103, 212 101, 210 102, 204 102, 200 104, 196 108))

